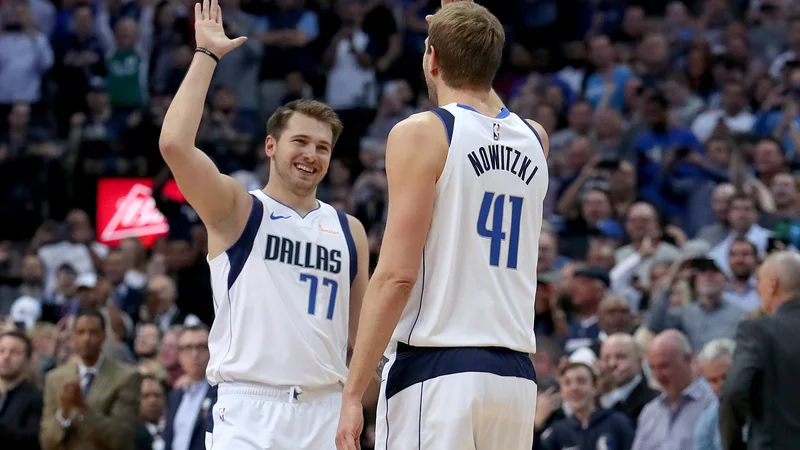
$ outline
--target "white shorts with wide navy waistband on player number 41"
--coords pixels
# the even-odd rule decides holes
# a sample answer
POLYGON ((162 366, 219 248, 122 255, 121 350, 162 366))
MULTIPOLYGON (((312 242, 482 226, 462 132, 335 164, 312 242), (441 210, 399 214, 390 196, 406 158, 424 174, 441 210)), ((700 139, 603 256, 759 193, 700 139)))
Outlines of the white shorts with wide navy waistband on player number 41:
POLYGON ((536 373, 498 348, 398 344, 383 371, 375 450, 530 450, 536 373))

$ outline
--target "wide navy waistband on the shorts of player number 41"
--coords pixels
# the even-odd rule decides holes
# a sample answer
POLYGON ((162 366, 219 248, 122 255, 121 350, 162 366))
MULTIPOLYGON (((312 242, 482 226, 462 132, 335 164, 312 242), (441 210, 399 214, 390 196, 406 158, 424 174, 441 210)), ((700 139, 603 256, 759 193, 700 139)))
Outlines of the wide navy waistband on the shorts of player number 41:
POLYGON ((386 377, 386 399, 417 383, 465 372, 536 382, 536 370, 527 353, 499 347, 412 347, 398 342, 397 356, 386 377))

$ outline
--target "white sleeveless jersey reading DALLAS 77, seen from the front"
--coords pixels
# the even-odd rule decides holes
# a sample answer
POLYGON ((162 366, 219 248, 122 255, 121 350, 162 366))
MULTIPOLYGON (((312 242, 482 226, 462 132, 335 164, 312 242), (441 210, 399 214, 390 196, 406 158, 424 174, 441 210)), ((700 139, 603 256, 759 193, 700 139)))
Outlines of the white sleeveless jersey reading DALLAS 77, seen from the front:
POLYGON ((260 190, 251 194, 242 236, 208 262, 216 318, 206 376, 212 385, 344 382, 358 270, 347 216, 319 202, 301 217, 260 190))

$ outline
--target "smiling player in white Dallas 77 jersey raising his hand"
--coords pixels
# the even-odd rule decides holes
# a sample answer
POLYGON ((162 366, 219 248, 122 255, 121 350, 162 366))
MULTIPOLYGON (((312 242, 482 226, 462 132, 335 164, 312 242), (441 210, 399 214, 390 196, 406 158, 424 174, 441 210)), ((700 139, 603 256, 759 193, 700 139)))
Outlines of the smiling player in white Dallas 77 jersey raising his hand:
POLYGON ((160 147, 208 229, 206 377, 219 391, 207 446, 333 449, 368 271, 363 226, 316 199, 342 124, 316 101, 279 108, 267 123, 269 182, 248 193, 194 147, 218 58, 245 38, 225 36, 217 0, 195 5, 195 35, 160 147))

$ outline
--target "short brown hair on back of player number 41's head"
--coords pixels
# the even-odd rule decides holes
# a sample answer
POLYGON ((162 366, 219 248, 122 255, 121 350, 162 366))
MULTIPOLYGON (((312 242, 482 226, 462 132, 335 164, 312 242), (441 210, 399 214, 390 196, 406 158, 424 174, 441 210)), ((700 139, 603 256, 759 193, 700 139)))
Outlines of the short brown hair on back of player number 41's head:
POLYGON ((439 58, 442 79, 455 89, 489 88, 500 61, 506 35, 489 10, 475 3, 451 3, 433 15, 428 48, 439 58))

